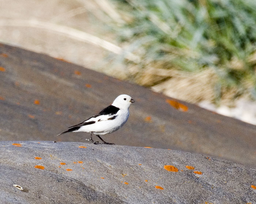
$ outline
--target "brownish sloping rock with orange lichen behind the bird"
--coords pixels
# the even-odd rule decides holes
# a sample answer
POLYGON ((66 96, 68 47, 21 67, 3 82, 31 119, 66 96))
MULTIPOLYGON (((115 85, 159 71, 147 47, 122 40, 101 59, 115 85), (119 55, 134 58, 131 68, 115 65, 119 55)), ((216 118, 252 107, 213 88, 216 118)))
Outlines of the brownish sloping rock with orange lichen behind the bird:
POLYGON ((0 44, 0 67, 1 141, 82 142, 89 134, 56 135, 98 113, 117 95, 128 94, 136 101, 128 122, 103 136, 105 141, 184 150, 256 166, 254 125, 4 44, 0 44))

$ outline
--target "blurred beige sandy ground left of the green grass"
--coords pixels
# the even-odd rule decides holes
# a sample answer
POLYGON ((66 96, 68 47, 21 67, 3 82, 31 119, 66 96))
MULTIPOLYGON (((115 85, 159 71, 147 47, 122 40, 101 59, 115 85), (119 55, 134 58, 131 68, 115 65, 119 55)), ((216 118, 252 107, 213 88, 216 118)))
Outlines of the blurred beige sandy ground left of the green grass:
POLYGON ((99 70, 100 61, 109 52, 92 38, 109 37, 91 13, 93 1, 84 2, 1 0, 0 41, 104 71, 99 70))

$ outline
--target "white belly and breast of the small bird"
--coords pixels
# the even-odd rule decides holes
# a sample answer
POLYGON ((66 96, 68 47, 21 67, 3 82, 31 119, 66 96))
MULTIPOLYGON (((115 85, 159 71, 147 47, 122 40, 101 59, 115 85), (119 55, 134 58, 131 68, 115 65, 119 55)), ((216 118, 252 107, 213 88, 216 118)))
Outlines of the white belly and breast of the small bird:
POLYGON ((118 130, 120 127, 124 125, 129 117, 129 111, 127 113, 120 113, 117 115, 115 119, 112 120, 105 120, 105 121, 96 121, 91 125, 85 125, 80 127, 78 130, 74 132, 93 132, 93 134, 108 134, 113 133, 114 131, 118 130))

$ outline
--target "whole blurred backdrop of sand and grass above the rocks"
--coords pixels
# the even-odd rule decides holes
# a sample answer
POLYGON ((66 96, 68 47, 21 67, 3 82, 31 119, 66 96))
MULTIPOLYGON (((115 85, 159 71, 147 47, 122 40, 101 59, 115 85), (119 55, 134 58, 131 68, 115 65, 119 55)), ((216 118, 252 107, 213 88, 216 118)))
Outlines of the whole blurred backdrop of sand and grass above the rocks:
POLYGON ((0 42, 256 124, 255 0, 0 0, 0 42))

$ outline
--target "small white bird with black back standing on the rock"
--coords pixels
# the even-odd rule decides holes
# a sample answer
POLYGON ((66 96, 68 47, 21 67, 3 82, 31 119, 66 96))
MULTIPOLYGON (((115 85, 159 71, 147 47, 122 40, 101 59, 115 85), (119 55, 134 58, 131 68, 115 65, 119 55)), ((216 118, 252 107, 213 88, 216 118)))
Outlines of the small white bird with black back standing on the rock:
POLYGON ((129 95, 122 94, 114 99, 113 103, 100 111, 98 114, 88 118, 87 120, 68 127, 63 133, 57 136, 68 133, 68 132, 85 132, 90 133, 90 140, 93 144, 106 144, 114 145, 114 143, 105 142, 99 135, 113 133, 120 129, 129 117, 129 107, 131 103, 135 102, 129 95), (102 142, 94 142, 93 134, 95 134, 102 142))

